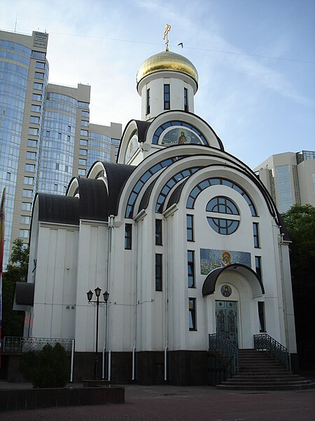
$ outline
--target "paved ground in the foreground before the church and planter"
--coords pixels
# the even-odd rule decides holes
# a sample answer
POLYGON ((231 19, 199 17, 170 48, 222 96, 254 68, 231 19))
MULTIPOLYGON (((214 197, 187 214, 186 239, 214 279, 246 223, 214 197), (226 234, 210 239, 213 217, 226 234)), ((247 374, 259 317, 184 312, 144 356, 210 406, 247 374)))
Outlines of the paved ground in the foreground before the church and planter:
MULTIPOLYGON (((0 389, 13 385, 0 382, 0 389)), ((14 387, 29 387, 19 383, 14 387)), ((72 385, 82 387, 82 385, 72 385)), ((125 385, 125 403, 18 410, 1 421, 314 421, 315 389, 235 392, 211 386, 125 385)))

